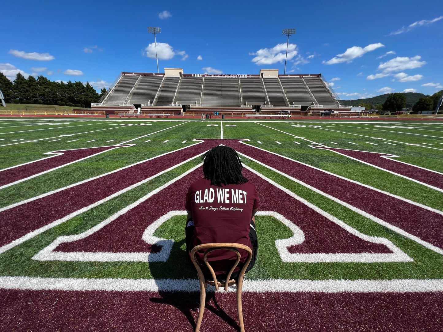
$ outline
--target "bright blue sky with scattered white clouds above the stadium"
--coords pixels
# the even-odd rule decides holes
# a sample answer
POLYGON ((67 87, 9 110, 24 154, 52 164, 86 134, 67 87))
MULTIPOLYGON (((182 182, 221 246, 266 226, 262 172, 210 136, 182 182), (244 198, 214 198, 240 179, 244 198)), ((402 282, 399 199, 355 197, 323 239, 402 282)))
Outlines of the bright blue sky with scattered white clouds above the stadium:
POLYGON ((341 99, 443 88, 440 1, 4 1, 0 71, 89 81, 121 71, 323 73, 341 99))

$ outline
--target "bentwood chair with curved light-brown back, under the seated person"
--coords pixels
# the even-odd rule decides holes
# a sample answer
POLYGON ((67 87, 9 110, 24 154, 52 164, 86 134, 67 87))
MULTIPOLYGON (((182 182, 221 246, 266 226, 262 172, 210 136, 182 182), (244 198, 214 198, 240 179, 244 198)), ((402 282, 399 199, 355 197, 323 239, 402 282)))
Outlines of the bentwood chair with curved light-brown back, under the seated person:
POLYGON ((200 244, 196 247, 194 247, 191 251, 191 261, 194 264, 195 268, 197 269, 198 274, 198 281, 200 282, 200 309, 198 309, 198 318, 197 318, 197 324, 195 326, 195 332, 200 331, 200 325, 202 324, 203 319, 203 311, 205 310, 205 301, 206 301, 206 286, 209 284, 211 286, 215 287, 215 290, 218 290, 218 287, 225 287, 225 290, 228 290, 228 286, 232 286, 234 284, 237 284, 237 312, 238 312, 238 321, 240 325, 240 331, 245 332, 245 326, 243 324, 243 311, 241 309, 241 287, 243 286, 243 278, 245 277, 245 271, 248 267, 249 263, 252 259, 252 250, 248 246, 245 246, 244 244, 240 243, 206 243, 206 244, 200 244), (205 250, 205 254, 203 255, 203 260, 205 261, 206 266, 208 267, 213 280, 207 280, 202 272, 202 269, 200 268, 200 265, 197 262, 197 259, 195 258, 195 254, 197 251, 205 250), (245 265, 240 271, 240 274, 238 275, 237 280, 230 279, 231 275, 234 271, 234 269, 237 267, 238 263, 240 262, 241 255, 240 251, 238 249, 242 249, 248 252, 248 258, 245 261, 245 265), (237 255, 237 260, 235 261, 235 264, 232 266, 231 270, 229 270, 228 275, 226 276, 225 282, 220 282, 217 280, 217 277, 215 276, 214 269, 210 266, 207 255, 216 250, 229 250, 233 251, 237 255))

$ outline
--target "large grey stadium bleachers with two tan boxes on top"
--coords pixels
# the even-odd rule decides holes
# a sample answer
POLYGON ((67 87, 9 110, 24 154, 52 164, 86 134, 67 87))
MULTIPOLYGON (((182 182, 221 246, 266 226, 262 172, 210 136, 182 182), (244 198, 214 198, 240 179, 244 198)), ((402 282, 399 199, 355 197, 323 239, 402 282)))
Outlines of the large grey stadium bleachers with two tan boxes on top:
MULTIPOLYGON (((300 107, 343 108, 321 74, 278 75, 278 69, 262 69, 261 75, 184 74, 169 68, 164 73, 121 73, 104 101, 93 105, 162 108, 192 105, 199 108, 251 108, 268 111, 300 107), (273 73, 272 73, 273 71, 273 73), (172 74, 171 74, 172 73, 172 74), (175 106, 172 106, 175 105, 175 106)), ((183 106, 184 107, 184 106, 183 106)), ((183 108, 184 109, 184 108, 183 108)), ((189 108, 187 108, 189 109, 189 108)))

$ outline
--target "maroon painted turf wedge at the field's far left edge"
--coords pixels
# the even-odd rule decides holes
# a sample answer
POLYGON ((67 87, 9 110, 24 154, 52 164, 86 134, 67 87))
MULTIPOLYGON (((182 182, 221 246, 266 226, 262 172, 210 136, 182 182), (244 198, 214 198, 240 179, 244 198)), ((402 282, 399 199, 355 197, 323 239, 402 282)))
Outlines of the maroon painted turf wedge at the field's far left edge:
POLYGON ((0 171, 0 186, 7 185, 9 183, 28 178, 32 175, 51 170, 52 168, 66 165, 70 162, 79 161, 80 159, 89 158, 95 154, 103 153, 105 151, 120 147, 128 147, 128 145, 120 145, 118 147, 88 147, 84 149, 53 151, 51 154, 62 154, 0 171))

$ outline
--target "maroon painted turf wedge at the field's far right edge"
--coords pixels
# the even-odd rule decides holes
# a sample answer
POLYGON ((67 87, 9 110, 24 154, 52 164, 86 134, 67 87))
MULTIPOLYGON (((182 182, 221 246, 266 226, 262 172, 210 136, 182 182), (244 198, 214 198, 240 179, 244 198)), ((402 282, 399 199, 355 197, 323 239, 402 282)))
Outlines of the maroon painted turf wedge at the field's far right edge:
POLYGON ((408 178, 412 178, 417 181, 421 181, 428 185, 433 185, 434 187, 443 189, 443 175, 435 172, 431 172, 429 170, 424 170, 423 168, 404 164, 401 161, 401 158, 396 161, 396 159, 383 158, 381 156, 392 157, 393 154, 386 153, 373 153, 367 151, 357 151, 357 150, 346 150, 346 149, 338 149, 334 147, 315 147, 316 149, 324 149, 334 151, 338 154, 344 154, 351 158, 355 158, 361 160, 362 162, 367 162, 371 165, 381 167, 385 170, 390 170, 391 172, 407 176, 408 178))

